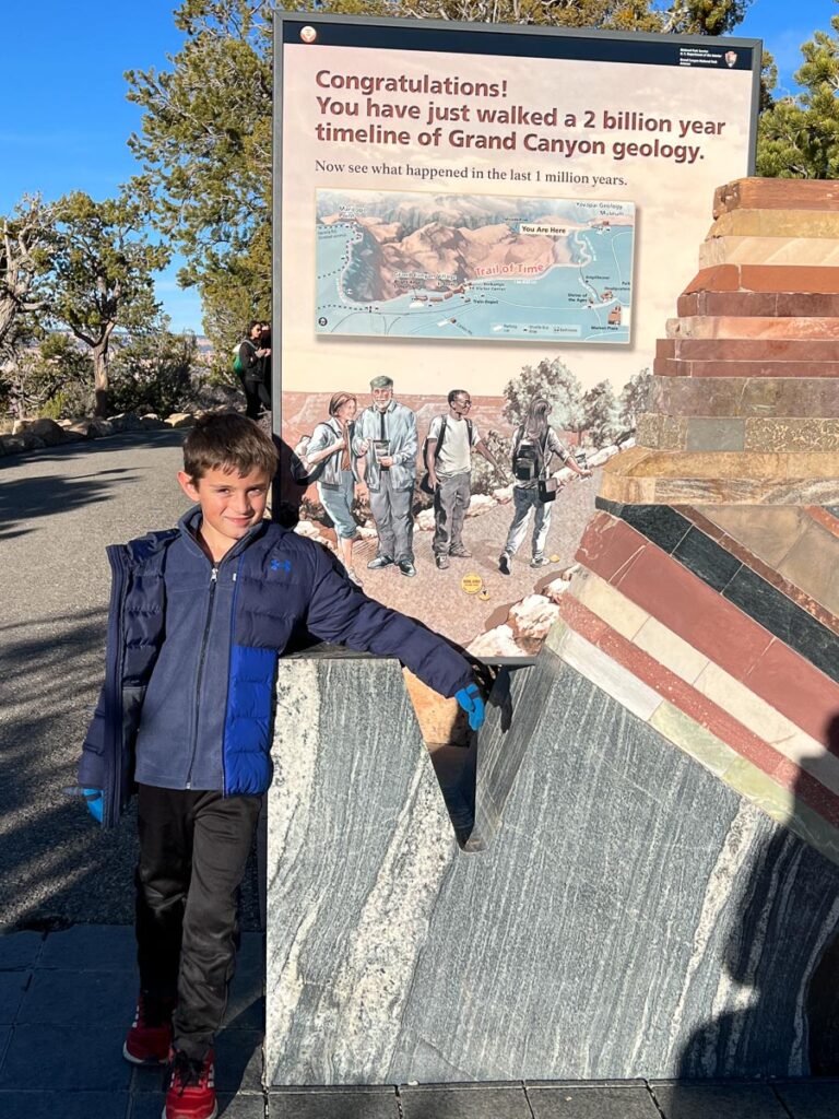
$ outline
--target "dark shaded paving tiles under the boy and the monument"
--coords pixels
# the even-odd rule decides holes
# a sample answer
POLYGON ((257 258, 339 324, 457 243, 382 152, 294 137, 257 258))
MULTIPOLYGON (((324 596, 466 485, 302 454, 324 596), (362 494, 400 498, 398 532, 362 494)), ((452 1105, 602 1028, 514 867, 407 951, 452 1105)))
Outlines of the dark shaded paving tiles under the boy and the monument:
MULTIPOLYGON (((217 1042, 225 1119, 837 1119, 839 1080, 262 1087, 262 935, 245 933, 217 1042)), ((0 935, 0 1117, 158 1119, 161 1073, 122 1059, 134 1010, 133 931, 0 935)))

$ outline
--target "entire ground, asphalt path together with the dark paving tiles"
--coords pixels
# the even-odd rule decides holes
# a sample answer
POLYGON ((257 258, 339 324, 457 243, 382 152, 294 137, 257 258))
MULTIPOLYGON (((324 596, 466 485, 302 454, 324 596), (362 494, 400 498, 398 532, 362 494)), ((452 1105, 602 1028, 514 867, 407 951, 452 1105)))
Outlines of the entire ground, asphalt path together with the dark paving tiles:
MULTIPOLYGON (((63 789, 102 673, 104 547, 173 524, 182 433, 0 463, 0 1119, 157 1119, 159 1070, 122 1041, 136 998, 133 820, 102 833, 63 789)), ((217 1044, 226 1119, 836 1119, 839 1080, 289 1088, 265 1092, 255 863, 217 1044)))

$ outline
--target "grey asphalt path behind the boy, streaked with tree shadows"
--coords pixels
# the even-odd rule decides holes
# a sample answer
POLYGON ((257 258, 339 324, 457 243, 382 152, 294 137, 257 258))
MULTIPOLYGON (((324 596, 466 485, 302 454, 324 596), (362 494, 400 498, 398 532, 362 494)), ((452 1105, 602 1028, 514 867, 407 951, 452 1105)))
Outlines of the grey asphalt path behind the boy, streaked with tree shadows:
MULTIPOLYGON (((97 829, 78 752, 104 667, 107 544, 187 508, 182 432, 117 435, 0 461, 0 928, 133 921, 133 812, 97 829)), ((243 925, 258 928, 255 861, 243 925)))

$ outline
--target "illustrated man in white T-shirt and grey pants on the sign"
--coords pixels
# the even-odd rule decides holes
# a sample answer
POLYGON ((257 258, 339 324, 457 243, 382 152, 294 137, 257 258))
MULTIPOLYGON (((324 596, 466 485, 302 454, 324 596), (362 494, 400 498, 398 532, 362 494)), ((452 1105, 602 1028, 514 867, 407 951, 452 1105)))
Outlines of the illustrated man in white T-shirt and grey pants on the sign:
POLYGON ((440 571, 449 566, 449 556, 469 560, 472 555, 463 544, 463 521, 472 496, 472 448, 501 474, 477 424, 466 417, 471 407, 469 393, 453 388, 447 414, 434 416, 425 441, 425 469, 434 493, 432 551, 440 571))

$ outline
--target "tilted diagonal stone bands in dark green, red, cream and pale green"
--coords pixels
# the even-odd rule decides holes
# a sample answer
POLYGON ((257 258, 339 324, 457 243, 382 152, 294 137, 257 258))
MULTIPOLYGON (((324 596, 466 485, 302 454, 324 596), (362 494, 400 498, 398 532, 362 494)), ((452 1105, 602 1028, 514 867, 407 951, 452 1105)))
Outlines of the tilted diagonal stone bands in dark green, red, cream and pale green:
POLYGON ((805 838, 838 861, 839 620, 697 510, 610 509, 549 641, 776 819, 807 805, 805 838))

